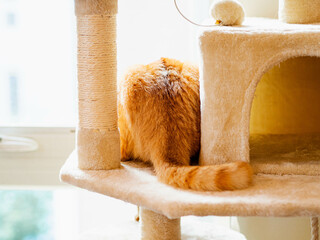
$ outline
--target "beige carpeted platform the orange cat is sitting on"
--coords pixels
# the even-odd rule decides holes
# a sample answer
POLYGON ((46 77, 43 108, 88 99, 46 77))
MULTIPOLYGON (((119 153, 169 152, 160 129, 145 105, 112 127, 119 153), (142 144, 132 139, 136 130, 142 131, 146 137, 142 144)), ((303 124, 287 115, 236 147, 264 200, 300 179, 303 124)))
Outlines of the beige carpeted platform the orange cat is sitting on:
POLYGON ((137 162, 115 170, 80 170, 74 152, 61 179, 162 213, 169 218, 206 216, 320 216, 319 176, 255 176, 241 191, 196 192, 159 183, 152 168, 137 162))

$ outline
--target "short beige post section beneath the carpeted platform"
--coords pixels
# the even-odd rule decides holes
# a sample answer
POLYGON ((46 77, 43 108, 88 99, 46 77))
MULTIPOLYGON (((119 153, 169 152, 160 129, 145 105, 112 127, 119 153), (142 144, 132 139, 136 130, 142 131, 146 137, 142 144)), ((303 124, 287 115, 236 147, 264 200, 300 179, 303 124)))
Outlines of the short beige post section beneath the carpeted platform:
POLYGON ((180 218, 169 219, 161 214, 141 209, 141 240, 180 240, 180 218))

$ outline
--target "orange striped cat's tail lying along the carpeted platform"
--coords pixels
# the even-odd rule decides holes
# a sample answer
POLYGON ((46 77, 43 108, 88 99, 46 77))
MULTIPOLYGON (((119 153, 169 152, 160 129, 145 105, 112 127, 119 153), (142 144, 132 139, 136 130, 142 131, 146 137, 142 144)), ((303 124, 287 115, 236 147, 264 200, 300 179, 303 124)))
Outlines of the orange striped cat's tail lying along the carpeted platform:
POLYGON ((212 166, 160 166, 159 180, 174 187, 200 191, 236 190, 248 187, 253 171, 242 161, 212 166))

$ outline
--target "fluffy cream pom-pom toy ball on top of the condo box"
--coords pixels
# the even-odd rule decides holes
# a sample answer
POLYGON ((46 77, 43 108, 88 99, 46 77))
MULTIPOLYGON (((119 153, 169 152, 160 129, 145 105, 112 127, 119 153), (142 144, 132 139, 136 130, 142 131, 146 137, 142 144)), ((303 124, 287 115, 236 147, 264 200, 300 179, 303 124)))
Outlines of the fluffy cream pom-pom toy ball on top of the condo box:
POLYGON ((216 0, 210 7, 210 14, 216 24, 232 26, 241 25, 245 13, 241 3, 235 0, 216 0))

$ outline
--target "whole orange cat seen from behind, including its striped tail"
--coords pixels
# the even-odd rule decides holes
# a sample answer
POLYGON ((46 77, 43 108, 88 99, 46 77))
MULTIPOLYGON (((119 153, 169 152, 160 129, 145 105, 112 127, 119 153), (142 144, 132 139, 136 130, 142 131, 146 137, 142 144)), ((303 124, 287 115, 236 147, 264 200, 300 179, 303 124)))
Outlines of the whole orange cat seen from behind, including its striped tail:
POLYGON ((233 190, 252 179, 249 164, 189 166, 200 149, 197 67, 161 58, 137 66, 119 86, 121 160, 151 162, 160 181, 194 190, 233 190))

